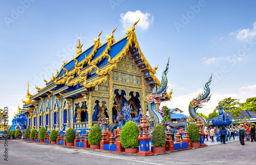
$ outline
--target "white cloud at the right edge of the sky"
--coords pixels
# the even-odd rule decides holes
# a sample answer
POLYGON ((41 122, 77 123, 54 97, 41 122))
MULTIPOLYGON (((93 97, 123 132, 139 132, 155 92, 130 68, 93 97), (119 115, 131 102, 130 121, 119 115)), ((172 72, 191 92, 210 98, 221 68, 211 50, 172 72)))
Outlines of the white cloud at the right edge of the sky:
POLYGON ((237 30, 236 32, 229 33, 230 35, 236 35, 236 37, 240 40, 249 39, 251 37, 256 36, 256 21, 253 23, 253 28, 250 29, 242 29, 237 30))

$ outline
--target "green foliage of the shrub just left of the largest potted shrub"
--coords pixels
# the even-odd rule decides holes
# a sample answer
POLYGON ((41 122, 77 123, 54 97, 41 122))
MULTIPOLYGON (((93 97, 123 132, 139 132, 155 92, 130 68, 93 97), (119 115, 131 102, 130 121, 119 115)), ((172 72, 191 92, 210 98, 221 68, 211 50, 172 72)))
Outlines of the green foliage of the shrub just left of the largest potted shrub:
POLYGON ((94 125, 88 134, 89 145, 99 145, 101 141, 101 130, 98 125, 94 125))

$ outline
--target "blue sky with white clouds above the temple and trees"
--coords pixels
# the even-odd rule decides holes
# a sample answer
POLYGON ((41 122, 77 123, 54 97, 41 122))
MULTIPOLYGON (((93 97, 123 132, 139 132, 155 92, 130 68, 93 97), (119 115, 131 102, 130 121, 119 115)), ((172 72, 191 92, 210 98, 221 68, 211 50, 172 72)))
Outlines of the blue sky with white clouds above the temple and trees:
POLYGON ((101 30, 101 43, 116 26, 119 40, 139 17, 135 33, 148 62, 159 64, 159 79, 170 57, 173 99, 162 105, 188 114, 211 74, 213 94, 200 112, 212 112, 227 97, 245 102, 256 92, 255 9, 255 1, 1 1, 0 107, 8 105, 12 116, 27 81, 34 94, 35 84, 44 87, 42 77, 49 81, 75 55, 78 35, 82 50, 101 30))

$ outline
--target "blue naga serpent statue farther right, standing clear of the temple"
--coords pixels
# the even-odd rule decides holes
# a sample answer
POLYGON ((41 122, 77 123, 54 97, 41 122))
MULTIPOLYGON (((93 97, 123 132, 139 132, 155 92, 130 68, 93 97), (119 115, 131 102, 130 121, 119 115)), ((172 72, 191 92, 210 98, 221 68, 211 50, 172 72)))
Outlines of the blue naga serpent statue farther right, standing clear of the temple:
POLYGON ((202 124, 205 126, 205 124, 207 123, 206 120, 197 113, 197 109, 198 108, 202 108, 203 104, 205 102, 208 102, 210 100, 211 95, 210 94, 210 88, 209 85, 211 83, 211 77, 209 78, 209 81, 205 83, 204 86, 204 92, 199 93, 198 97, 196 99, 193 99, 192 101, 190 101, 189 106, 188 106, 188 112, 189 115, 196 120, 197 117, 199 116, 199 119, 202 121, 202 124))

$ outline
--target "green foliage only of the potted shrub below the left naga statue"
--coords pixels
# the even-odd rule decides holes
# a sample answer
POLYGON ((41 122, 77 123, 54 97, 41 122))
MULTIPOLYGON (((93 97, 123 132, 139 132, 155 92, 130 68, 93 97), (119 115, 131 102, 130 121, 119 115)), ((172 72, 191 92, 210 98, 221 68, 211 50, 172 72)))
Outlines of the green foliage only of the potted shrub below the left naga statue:
POLYGON ((158 124, 152 132, 152 145, 154 147, 165 147, 165 128, 158 124))

